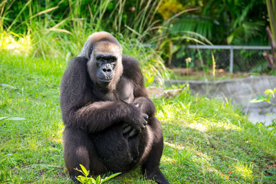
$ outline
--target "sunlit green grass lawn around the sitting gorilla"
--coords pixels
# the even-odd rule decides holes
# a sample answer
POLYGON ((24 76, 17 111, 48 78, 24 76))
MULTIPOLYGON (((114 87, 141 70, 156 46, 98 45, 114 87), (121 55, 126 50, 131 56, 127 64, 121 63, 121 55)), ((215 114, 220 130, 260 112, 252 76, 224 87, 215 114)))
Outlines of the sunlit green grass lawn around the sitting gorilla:
MULTIPOLYGON (((59 83, 65 59, 0 53, 0 183, 71 183, 63 161, 59 83)), ((155 99, 164 130, 161 170, 170 183, 262 183, 276 170, 276 137, 229 103, 155 99)), ((148 183, 139 169, 110 183, 148 183)))

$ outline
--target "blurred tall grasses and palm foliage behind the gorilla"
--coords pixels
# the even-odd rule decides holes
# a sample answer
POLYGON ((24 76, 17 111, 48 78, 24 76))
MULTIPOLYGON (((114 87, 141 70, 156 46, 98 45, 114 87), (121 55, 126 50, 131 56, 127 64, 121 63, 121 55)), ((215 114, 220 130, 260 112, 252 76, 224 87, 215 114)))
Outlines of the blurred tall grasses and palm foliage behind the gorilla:
POLYGON ((161 56, 148 60, 158 63, 155 68, 171 65, 176 54, 185 57, 184 44, 268 45, 262 0, 4 0, 0 9, 0 37, 26 37, 28 50, 44 58, 75 56, 88 35, 100 30, 124 37, 132 48, 137 41, 150 43, 161 56))

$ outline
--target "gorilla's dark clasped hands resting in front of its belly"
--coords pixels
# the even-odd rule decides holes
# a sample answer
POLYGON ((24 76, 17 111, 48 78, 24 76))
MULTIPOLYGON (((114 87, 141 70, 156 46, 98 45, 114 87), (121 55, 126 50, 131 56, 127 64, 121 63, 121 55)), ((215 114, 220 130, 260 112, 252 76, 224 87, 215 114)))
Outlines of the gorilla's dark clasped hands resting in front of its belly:
POLYGON ((123 134, 130 132, 129 136, 134 136, 135 134, 141 132, 148 124, 148 115, 141 112, 137 105, 128 104, 130 107, 130 114, 126 116, 126 123, 123 125, 123 134))

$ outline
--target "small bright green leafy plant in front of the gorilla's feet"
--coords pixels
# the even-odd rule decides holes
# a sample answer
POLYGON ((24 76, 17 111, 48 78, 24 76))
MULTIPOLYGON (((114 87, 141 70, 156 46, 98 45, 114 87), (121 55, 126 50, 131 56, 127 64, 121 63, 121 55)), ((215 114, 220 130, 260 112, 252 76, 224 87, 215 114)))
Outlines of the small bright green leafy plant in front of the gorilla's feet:
POLYGON ((75 168, 75 170, 77 170, 78 172, 81 172, 84 176, 77 176, 77 180, 81 183, 87 183, 87 184, 101 184, 105 181, 110 180, 111 178, 114 178, 115 176, 118 176, 119 174, 121 174, 121 172, 117 172, 115 174, 112 174, 111 176, 108 176, 106 178, 101 178, 101 176, 97 176, 96 179, 92 178, 92 177, 88 177, 89 171, 86 170, 86 167, 83 167, 83 165, 79 164, 81 166, 81 170, 78 170, 77 168, 75 168))

